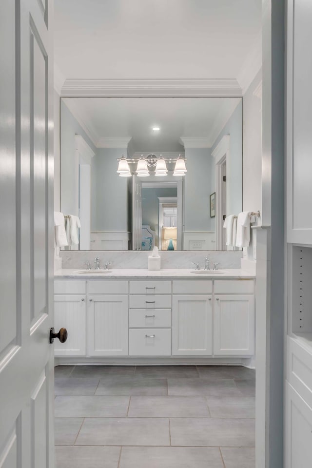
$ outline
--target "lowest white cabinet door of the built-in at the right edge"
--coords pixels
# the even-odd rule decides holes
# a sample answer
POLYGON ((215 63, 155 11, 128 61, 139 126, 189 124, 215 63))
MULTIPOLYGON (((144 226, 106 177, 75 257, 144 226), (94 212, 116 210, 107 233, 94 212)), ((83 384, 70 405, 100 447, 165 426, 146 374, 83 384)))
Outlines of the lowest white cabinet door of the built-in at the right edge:
POLYGON ((286 468, 311 467, 312 409, 286 382, 286 468))

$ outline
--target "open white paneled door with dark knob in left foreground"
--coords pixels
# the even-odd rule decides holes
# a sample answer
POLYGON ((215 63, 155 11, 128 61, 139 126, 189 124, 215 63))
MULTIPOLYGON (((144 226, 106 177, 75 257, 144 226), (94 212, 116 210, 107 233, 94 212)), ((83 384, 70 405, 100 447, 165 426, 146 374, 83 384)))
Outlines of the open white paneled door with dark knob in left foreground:
POLYGON ((0 1, 0 466, 53 468, 49 0, 0 1))

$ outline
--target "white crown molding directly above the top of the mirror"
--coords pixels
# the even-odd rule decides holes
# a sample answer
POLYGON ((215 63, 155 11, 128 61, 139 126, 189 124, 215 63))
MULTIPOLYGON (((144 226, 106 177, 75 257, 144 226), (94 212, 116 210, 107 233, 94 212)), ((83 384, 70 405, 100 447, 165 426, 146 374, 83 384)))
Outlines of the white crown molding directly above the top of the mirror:
POLYGON ((236 79, 66 79, 61 97, 149 98, 149 97, 242 96, 236 79))

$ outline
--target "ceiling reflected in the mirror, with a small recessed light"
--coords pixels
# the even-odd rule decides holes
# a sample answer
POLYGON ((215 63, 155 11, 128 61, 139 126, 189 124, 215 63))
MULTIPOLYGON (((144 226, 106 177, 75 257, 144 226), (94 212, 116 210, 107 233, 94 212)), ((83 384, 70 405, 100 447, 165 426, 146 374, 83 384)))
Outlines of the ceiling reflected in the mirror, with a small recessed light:
POLYGON ((183 150, 181 137, 195 138, 192 146, 211 147, 240 101, 241 98, 64 98, 96 146, 110 146, 112 137, 117 141, 132 137, 134 152, 179 152, 183 150), (155 126, 160 127, 159 132, 152 130, 155 126))

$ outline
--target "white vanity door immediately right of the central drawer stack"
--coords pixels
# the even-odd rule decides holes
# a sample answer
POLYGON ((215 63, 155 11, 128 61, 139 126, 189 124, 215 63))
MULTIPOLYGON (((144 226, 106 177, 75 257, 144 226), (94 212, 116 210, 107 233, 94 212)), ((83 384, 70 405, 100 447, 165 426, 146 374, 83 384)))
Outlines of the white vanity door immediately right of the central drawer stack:
POLYGON ((212 354, 211 295, 173 296, 172 340, 173 355, 212 354))

